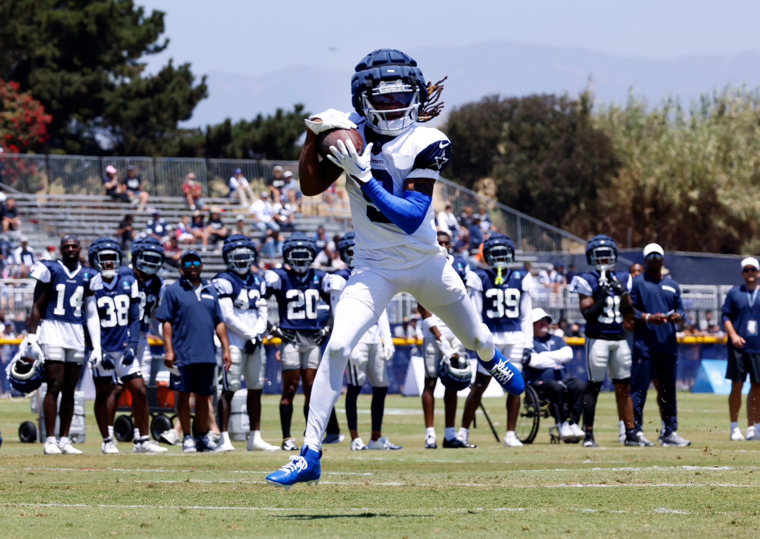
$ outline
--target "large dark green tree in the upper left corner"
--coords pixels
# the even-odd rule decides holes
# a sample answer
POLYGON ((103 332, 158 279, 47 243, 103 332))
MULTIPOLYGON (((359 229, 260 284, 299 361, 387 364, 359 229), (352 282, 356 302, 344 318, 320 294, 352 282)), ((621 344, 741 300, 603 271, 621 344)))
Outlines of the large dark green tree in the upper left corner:
POLYGON ((144 73, 144 55, 169 43, 163 17, 132 0, 0 0, 0 78, 52 114, 54 148, 100 152, 104 135, 116 154, 154 153, 207 95, 189 64, 144 73))

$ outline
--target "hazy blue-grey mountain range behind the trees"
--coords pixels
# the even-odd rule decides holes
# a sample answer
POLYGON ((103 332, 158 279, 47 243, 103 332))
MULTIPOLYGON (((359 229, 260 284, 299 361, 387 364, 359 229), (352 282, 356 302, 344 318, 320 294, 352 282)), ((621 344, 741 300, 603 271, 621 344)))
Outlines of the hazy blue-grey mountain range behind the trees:
MULTIPOLYGON (((449 108, 488 94, 577 94, 589 77, 597 102, 624 102, 633 88, 650 104, 667 95, 688 104, 700 93, 722 90, 727 84, 760 86, 760 52, 660 60, 508 42, 405 52, 417 60, 426 80, 448 75, 442 99, 449 108)), ((299 102, 314 113, 329 107, 348 111, 352 72, 353 65, 345 71, 292 67, 255 78, 211 71, 210 97, 185 125, 217 123, 227 116, 252 119, 299 102)))

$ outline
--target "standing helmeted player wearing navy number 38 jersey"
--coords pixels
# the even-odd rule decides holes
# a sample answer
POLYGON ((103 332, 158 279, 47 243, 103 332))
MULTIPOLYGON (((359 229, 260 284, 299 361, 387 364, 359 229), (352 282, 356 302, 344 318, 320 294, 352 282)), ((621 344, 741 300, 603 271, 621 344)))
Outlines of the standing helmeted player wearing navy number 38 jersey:
POLYGON ((141 436, 135 436, 134 453, 163 453, 165 447, 148 436, 147 392, 136 355, 140 339, 140 295, 138 284, 131 274, 119 275, 122 249, 115 239, 96 239, 87 252, 90 266, 98 273, 90 279, 100 331, 90 332, 93 350, 102 352, 90 358, 95 383, 95 418, 103 436, 103 453, 118 453, 116 442, 109 433, 112 413, 109 406, 114 382, 129 389, 132 397, 132 417, 141 436))

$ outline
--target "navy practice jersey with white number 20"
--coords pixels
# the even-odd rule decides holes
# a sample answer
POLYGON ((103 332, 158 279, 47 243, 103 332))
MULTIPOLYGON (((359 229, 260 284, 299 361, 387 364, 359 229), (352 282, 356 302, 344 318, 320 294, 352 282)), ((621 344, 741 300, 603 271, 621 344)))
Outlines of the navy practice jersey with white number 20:
POLYGON ((319 316, 318 307, 319 300, 329 305, 326 275, 325 271, 313 268, 303 276, 283 268, 266 271, 267 295, 277 299, 281 328, 309 331, 325 325, 326 319, 319 316))

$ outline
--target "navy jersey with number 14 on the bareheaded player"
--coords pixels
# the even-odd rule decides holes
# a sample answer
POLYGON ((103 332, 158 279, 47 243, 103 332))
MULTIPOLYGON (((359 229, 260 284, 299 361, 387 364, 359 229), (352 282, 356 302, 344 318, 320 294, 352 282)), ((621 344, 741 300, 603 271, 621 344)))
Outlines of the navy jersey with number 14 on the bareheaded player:
POLYGON ((42 313, 46 320, 58 320, 70 324, 83 324, 84 290, 90 286, 95 271, 92 268, 77 265, 70 271, 59 260, 38 260, 35 262, 31 276, 37 281, 47 283, 46 306, 42 313))

